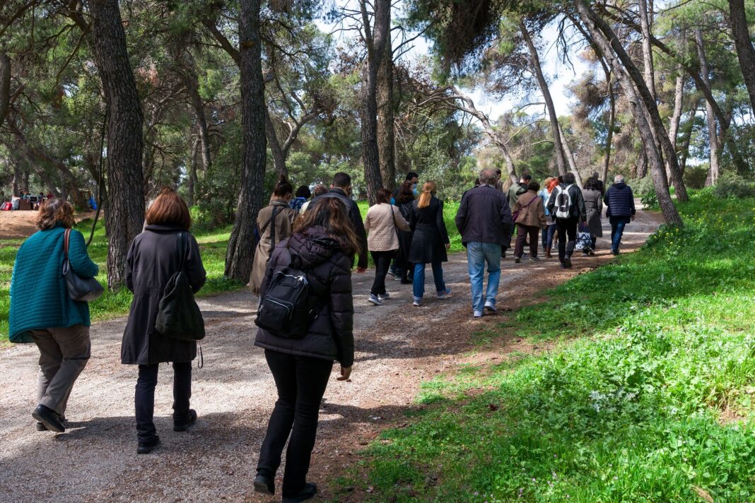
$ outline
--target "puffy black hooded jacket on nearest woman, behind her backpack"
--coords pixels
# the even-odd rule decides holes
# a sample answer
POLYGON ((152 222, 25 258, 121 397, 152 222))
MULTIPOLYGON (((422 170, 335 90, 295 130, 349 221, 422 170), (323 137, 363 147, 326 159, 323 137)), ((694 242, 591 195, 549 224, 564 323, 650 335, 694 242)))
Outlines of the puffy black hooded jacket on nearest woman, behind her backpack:
POLYGON ((351 260, 338 242, 325 234, 324 228, 310 227, 304 234, 294 234, 278 244, 267 263, 260 296, 265 295, 273 274, 288 266, 285 247, 292 256, 300 256, 313 291, 324 292, 319 295, 322 308, 303 338, 284 339, 260 328, 254 345, 287 354, 338 360, 343 367, 351 367, 354 363, 351 260))

